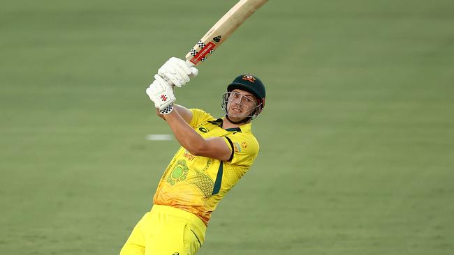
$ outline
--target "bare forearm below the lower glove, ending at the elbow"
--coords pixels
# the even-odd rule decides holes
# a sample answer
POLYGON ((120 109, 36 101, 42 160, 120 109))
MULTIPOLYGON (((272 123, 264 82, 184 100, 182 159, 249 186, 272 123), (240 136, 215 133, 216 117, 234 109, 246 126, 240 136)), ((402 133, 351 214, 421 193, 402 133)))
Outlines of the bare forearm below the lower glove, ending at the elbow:
POLYGON ((186 123, 178 111, 174 110, 170 114, 163 115, 163 118, 167 121, 178 143, 191 154, 196 155, 205 143, 205 139, 186 123))

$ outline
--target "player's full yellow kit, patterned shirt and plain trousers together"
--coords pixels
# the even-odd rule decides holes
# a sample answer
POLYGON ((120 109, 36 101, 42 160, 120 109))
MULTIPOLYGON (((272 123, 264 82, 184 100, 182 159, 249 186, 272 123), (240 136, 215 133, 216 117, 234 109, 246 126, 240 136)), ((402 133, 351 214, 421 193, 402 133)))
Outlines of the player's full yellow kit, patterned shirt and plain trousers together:
POLYGON ((181 147, 163 173, 152 211, 134 228, 122 255, 195 254, 205 240, 211 213, 258 155, 251 123, 224 130, 221 118, 191 111, 189 125, 205 139, 223 137, 233 151, 230 160, 191 155, 181 147))

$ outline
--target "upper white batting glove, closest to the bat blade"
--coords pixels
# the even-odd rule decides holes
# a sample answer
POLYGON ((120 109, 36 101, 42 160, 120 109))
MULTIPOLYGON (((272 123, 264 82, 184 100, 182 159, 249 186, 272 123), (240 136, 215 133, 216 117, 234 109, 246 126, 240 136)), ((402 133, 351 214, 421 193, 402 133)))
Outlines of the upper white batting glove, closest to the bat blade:
POLYGON ((191 77, 198 75, 198 70, 182 59, 171 57, 159 68, 158 75, 168 84, 182 87, 191 80, 191 77))

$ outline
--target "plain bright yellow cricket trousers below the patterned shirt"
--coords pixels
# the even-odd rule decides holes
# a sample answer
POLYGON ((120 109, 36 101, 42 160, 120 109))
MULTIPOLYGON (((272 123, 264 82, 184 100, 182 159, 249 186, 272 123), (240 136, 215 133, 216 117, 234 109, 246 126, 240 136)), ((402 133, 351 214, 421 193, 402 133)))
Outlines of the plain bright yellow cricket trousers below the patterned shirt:
POLYGON ((120 255, 196 254, 205 231, 205 223, 196 215, 154 205, 134 227, 120 255))

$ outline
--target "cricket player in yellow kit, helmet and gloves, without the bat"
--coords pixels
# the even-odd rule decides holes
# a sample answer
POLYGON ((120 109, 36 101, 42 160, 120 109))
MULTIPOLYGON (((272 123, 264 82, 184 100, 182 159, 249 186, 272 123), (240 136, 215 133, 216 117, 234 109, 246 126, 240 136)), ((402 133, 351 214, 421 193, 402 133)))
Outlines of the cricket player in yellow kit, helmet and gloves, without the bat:
POLYGON ((225 116, 214 118, 174 104, 173 88, 196 72, 182 59, 170 58, 146 90, 181 147, 159 181, 152 209, 136 224, 120 255, 196 254, 217 204, 258 155, 251 121, 265 105, 261 80, 248 74, 233 79, 222 95, 225 116))

